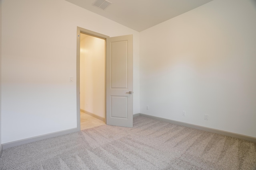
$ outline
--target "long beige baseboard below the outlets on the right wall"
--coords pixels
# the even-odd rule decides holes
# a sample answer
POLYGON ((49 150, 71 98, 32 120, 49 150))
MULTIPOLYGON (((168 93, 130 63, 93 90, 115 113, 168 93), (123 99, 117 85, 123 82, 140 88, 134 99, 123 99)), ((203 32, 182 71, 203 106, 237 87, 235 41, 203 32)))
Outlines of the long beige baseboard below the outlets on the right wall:
MULTIPOLYGON (((172 124, 175 124, 175 125, 182 125, 182 126, 191 127, 191 128, 194 128, 194 129, 199 129, 199 130, 202 130, 202 131, 217 133, 217 134, 220 134, 220 135, 226 135, 226 136, 229 136, 229 137, 234 137, 234 138, 243 139, 243 140, 246 140, 246 141, 251 141, 251 142, 256 143, 256 138, 255 137, 240 135, 240 134, 237 134, 237 133, 221 131, 221 130, 218 130, 218 129, 212 129, 212 128, 198 126, 198 125, 192 125, 192 124, 189 124, 189 123, 183 123, 183 122, 180 122, 180 121, 174 121, 174 120, 165 119, 165 118, 161 118, 161 117, 146 115, 146 114, 143 114, 143 113, 137 113, 135 115, 136 116, 140 115, 140 116, 148 117, 148 118, 151 118, 151 119, 165 121, 165 122, 172 123, 172 124)), ((136 117, 136 116, 133 115, 133 117, 136 117)))

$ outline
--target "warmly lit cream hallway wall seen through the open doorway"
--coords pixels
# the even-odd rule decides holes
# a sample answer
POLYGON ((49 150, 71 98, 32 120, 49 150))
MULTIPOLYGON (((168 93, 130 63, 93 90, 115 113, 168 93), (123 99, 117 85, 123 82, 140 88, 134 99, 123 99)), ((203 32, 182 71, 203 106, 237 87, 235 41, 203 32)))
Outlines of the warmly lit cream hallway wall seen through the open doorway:
POLYGON ((80 39, 80 109, 105 118, 105 40, 80 39))

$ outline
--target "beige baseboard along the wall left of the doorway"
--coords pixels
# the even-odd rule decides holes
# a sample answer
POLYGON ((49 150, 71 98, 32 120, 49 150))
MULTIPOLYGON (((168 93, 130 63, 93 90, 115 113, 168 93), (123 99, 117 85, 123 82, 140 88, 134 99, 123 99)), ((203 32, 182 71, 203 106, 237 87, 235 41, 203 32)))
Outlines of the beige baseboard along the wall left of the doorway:
POLYGON ((78 131, 80 131, 80 130, 78 130, 78 128, 68 129, 68 130, 65 130, 65 131, 59 131, 59 132, 49 133, 49 134, 46 134, 46 135, 40 135, 40 136, 36 136, 36 137, 31 137, 31 138, 27 138, 27 139, 21 139, 21 140, 18 140, 18 141, 4 143, 4 144, 1 145, 1 147, 2 147, 2 149, 7 149, 7 148, 23 145, 23 144, 26 144, 26 143, 36 142, 36 141, 40 141, 40 140, 43 140, 43 139, 48 139, 48 138, 52 138, 52 137, 66 135, 68 133, 74 133, 74 132, 78 132, 78 131))

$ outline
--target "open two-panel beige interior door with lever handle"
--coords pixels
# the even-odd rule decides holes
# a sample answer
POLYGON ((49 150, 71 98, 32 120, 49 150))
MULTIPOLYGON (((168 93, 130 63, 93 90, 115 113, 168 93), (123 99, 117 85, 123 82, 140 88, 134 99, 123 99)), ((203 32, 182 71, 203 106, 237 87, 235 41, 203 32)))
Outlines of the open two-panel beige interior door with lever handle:
POLYGON ((107 38, 106 123, 133 127, 132 35, 107 38))

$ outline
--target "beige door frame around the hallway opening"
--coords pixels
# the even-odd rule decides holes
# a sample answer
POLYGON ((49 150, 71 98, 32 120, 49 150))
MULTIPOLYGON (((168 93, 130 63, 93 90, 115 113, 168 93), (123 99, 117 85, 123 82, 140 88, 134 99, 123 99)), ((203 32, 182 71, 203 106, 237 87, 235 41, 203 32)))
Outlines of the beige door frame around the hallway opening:
MULTIPOLYGON (((76 33, 76 111, 77 111, 77 130, 80 131, 80 33, 85 33, 100 39, 109 38, 109 36, 100 34, 82 27, 77 27, 76 33)), ((105 123, 106 123, 106 43, 105 43, 105 123)))

